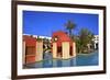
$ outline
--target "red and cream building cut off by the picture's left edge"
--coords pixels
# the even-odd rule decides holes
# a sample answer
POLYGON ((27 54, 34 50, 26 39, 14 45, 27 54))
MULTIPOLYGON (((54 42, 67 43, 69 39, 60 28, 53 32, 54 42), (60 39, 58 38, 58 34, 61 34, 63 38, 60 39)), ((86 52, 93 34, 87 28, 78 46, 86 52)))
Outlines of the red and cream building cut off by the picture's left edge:
POLYGON ((23 64, 31 64, 43 59, 43 42, 35 37, 23 35, 23 64))

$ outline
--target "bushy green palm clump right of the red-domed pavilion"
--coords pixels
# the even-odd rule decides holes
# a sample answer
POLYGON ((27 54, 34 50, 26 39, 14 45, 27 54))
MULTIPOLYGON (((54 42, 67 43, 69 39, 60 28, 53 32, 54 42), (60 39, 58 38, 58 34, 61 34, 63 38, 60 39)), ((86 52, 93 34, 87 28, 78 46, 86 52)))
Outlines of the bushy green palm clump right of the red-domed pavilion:
POLYGON ((87 30, 87 28, 81 28, 79 32, 79 36, 77 39, 77 49, 79 53, 88 53, 90 48, 88 45, 92 45, 92 38, 94 34, 87 30))

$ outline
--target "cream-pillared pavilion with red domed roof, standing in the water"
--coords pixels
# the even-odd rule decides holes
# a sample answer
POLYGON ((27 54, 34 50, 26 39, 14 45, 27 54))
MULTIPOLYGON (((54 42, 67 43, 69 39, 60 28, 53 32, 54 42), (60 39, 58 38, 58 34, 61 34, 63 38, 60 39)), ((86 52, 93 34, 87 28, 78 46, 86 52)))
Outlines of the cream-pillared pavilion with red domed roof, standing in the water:
POLYGON ((53 58, 67 59, 76 56, 76 44, 62 31, 53 33, 53 58))

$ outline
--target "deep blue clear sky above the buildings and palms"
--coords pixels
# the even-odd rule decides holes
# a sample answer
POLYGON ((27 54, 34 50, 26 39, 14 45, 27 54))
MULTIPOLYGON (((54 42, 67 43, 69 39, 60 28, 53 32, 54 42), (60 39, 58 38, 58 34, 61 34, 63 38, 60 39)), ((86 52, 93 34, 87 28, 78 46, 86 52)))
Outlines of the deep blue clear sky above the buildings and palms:
POLYGON ((98 14, 40 11, 23 11, 23 34, 52 36, 56 31, 67 32, 65 24, 68 20, 77 25, 73 31, 75 35, 82 27, 98 35, 98 14))

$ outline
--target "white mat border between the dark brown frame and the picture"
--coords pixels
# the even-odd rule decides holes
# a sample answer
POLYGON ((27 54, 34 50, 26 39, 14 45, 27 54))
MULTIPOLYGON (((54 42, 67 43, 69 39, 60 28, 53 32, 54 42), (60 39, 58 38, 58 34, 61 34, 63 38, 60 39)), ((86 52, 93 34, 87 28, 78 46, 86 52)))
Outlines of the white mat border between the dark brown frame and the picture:
POLYGON ((103 70, 103 12, 94 9, 76 9, 76 8, 56 8, 56 7, 38 7, 38 5, 18 5, 18 76, 25 75, 43 75, 58 72, 81 72, 103 70), (47 11, 47 12, 68 12, 68 13, 90 13, 99 14, 99 66, 88 67, 69 67, 69 68, 36 68, 22 69, 22 11, 47 11))

